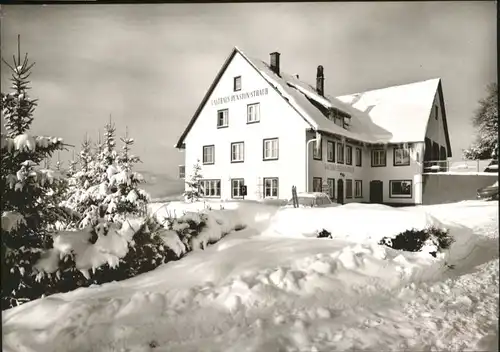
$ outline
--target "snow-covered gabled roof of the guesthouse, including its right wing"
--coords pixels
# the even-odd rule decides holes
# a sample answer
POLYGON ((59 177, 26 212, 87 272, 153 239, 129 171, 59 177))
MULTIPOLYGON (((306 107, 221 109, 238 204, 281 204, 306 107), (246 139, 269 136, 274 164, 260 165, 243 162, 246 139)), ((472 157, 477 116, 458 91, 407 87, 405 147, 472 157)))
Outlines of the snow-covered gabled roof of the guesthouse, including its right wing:
MULTIPOLYGON (((437 90, 442 98, 439 79, 338 98, 328 95, 320 96, 314 87, 300 81, 296 76, 285 72, 280 72, 280 75, 277 75, 266 62, 251 58, 235 47, 222 65, 186 130, 177 142, 177 148, 182 148, 187 133, 236 53, 239 53, 255 68, 310 125, 311 129, 345 136, 360 142, 372 144, 423 142, 437 90), (373 94, 374 92, 376 93, 373 94), (336 125, 326 117, 330 108, 336 108, 351 116, 349 130, 336 125)), ((442 101, 443 99, 441 99, 442 101)), ((451 150, 443 104, 441 111, 444 117, 447 149, 451 150)))

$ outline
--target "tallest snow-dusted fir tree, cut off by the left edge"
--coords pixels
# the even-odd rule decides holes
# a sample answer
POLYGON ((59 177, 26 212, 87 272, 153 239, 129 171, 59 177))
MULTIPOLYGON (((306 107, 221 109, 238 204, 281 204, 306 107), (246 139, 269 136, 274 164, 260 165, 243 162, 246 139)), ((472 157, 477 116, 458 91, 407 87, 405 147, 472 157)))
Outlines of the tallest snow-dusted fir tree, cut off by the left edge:
POLYGON ((28 95, 34 63, 29 63, 28 54, 21 58, 19 38, 13 65, 2 61, 12 73, 12 91, 1 94, 2 309, 6 309, 40 297, 47 285, 35 280, 33 265, 52 245, 49 225, 65 213, 53 195, 58 182, 54 172, 39 165, 64 146, 61 138, 29 134, 37 106, 28 95))

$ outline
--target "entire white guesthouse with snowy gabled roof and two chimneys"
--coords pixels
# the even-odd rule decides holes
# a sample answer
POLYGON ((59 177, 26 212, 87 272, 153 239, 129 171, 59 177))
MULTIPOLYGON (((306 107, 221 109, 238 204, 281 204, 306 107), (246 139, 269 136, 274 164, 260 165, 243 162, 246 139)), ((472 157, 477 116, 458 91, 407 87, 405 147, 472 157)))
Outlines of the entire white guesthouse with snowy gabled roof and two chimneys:
POLYGON ((234 48, 176 148, 189 178, 200 161, 206 197, 289 199, 327 192, 344 202, 420 204, 423 161, 446 160, 440 79, 331 97, 234 48), (319 141, 319 142, 318 142, 319 141), (318 148, 316 148, 318 147, 318 148))

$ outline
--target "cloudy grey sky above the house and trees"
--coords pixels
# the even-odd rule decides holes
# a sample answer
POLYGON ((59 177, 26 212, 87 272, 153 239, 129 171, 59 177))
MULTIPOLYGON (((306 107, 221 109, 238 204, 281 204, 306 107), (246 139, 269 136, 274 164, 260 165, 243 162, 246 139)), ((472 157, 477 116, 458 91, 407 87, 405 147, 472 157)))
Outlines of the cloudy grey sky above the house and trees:
MULTIPOLYGON (((283 71, 310 83, 321 64, 332 95, 441 77, 460 158, 497 80, 496 13, 493 1, 7 5, 1 44, 9 58, 21 34, 36 61, 33 133, 79 145, 112 114, 141 169, 175 177, 173 145, 233 46, 266 61, 279 51, 283 71)), ((8 76, 2 65, 2 91, 8 76)))

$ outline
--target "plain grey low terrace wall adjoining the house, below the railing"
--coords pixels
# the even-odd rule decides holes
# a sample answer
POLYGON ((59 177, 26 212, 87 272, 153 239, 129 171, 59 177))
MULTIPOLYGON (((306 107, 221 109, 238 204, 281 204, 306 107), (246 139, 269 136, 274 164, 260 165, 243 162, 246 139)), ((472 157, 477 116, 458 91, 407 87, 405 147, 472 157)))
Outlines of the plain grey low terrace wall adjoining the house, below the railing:
POLYGON ((477 190, 492 185, 498 174, 425 174, 423 204, 443 204, 476 199, 477 190))

